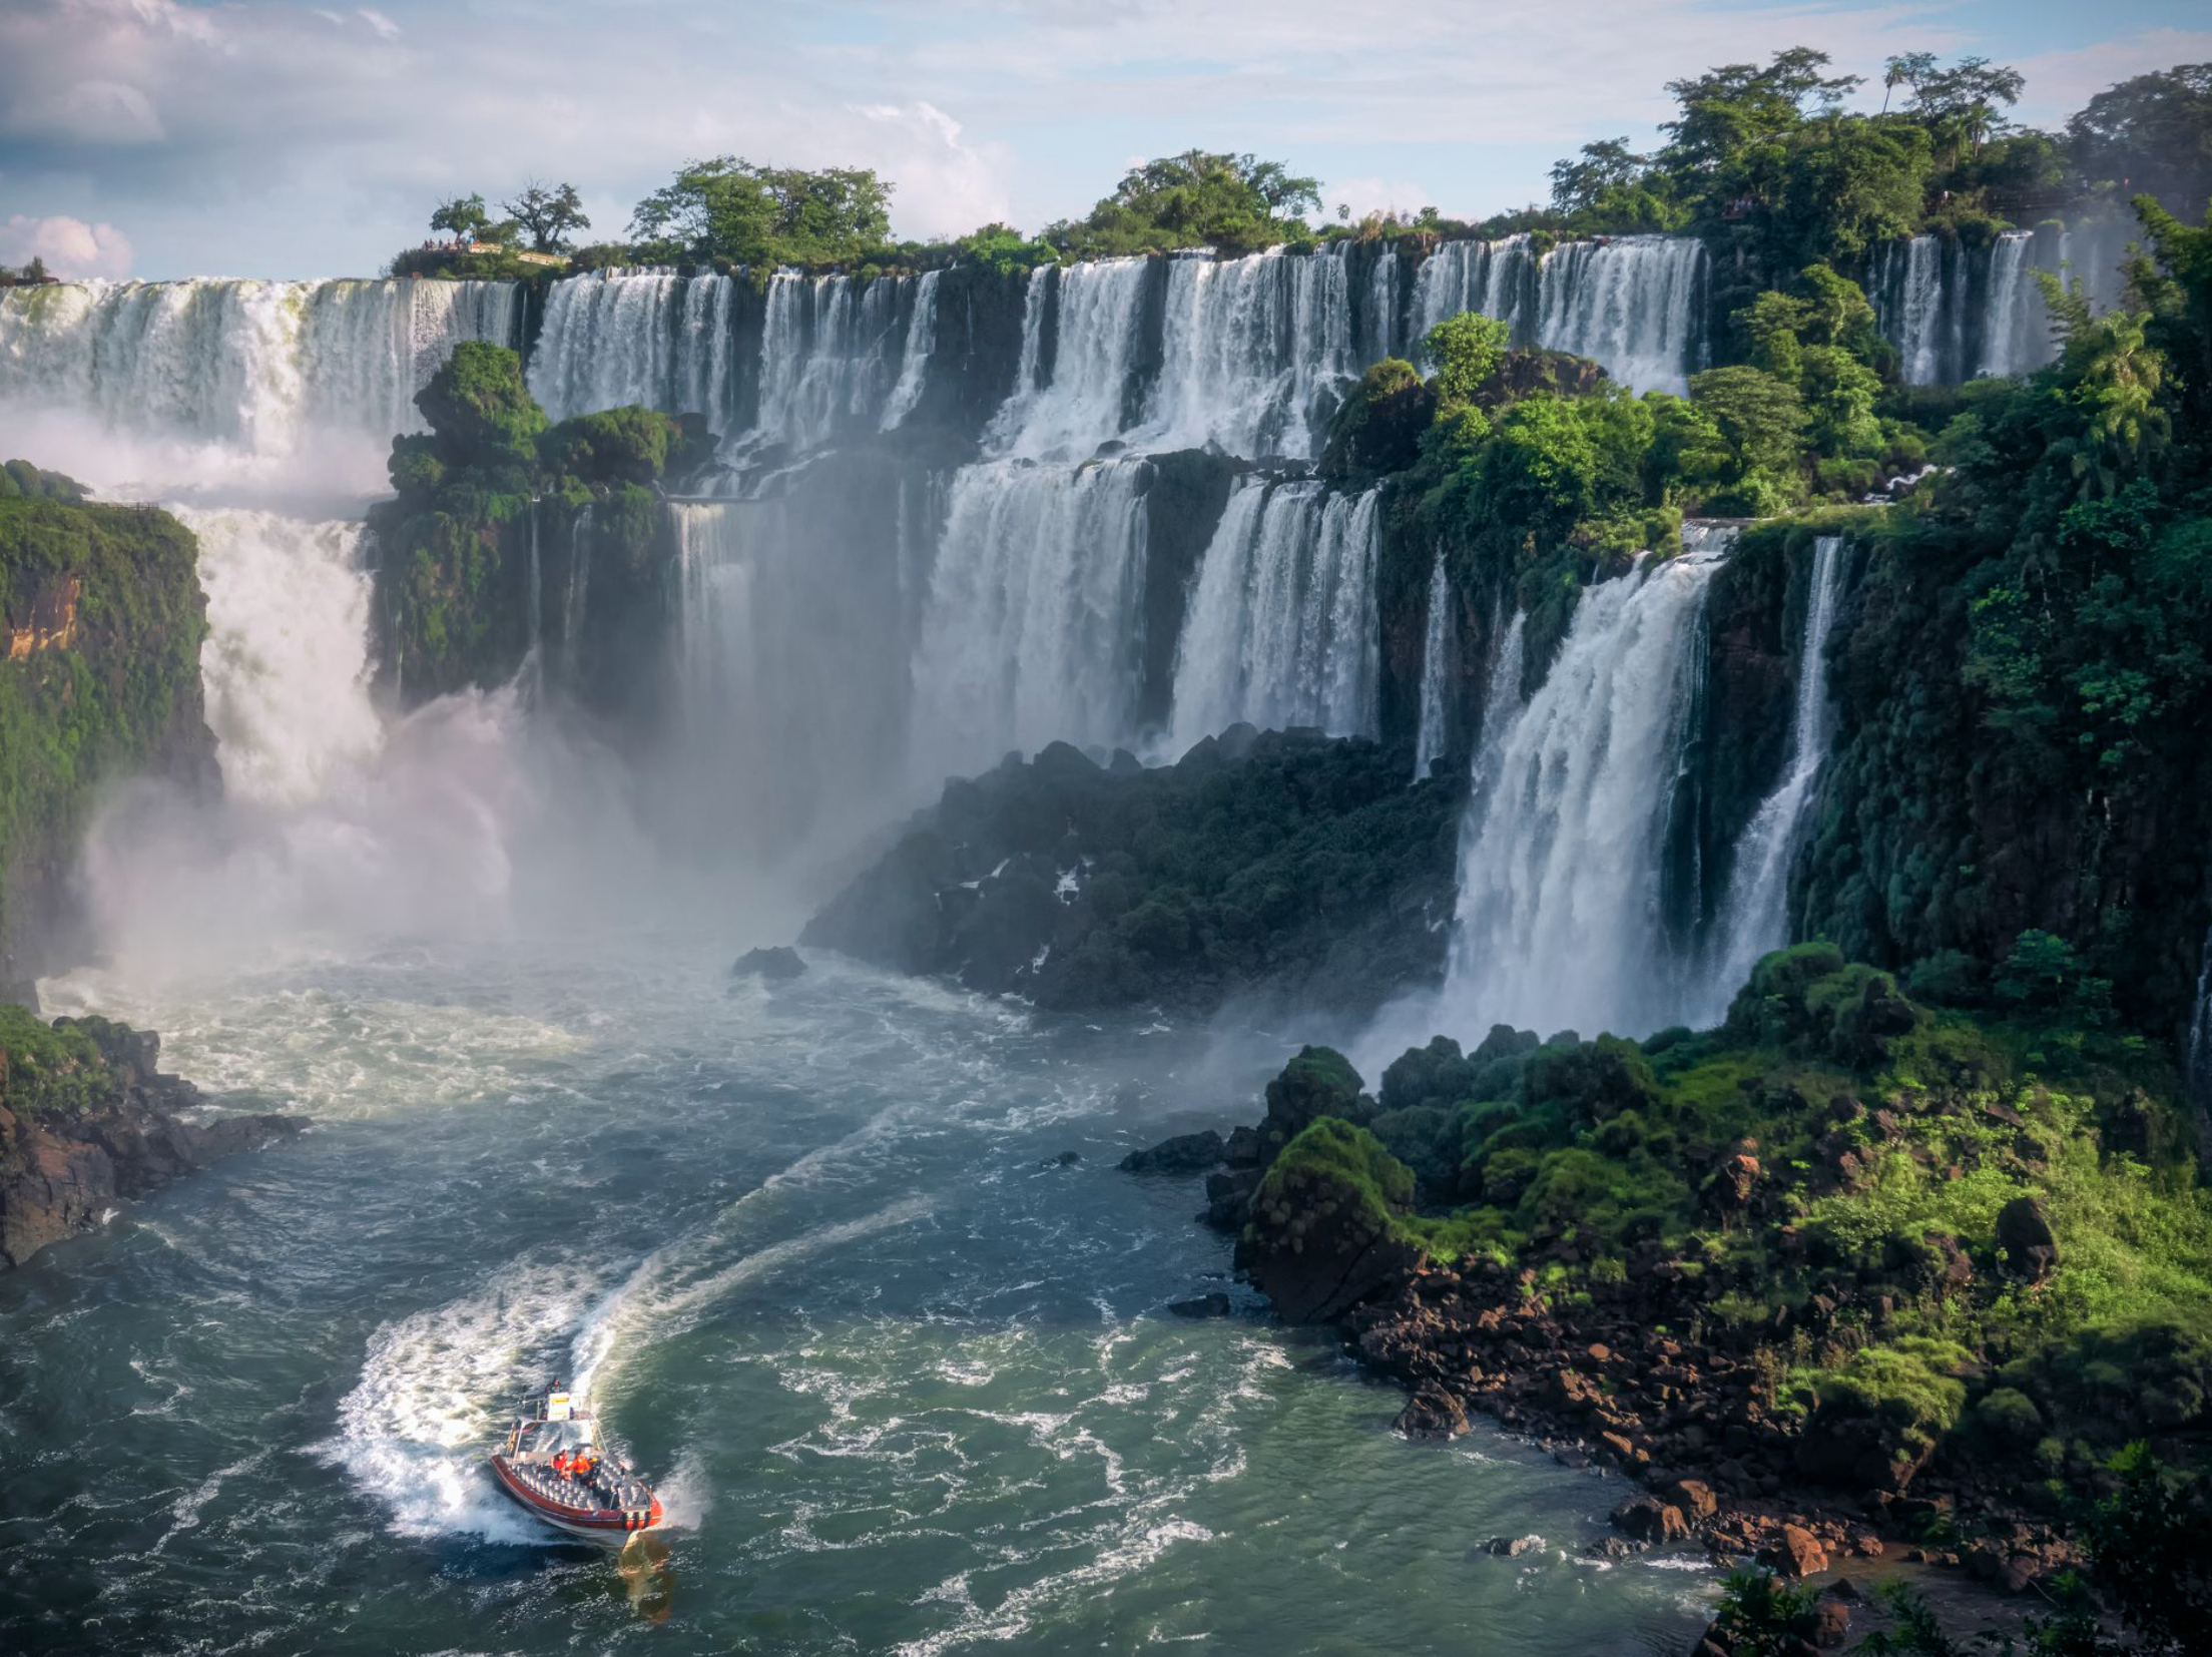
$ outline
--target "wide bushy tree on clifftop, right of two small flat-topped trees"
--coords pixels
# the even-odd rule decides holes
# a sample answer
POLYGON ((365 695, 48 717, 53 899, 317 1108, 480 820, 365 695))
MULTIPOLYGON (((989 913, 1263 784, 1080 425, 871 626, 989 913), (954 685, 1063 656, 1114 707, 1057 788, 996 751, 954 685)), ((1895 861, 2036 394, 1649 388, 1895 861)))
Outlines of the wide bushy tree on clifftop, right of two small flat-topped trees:
POLYGON ((891 235, 891 186, 867 168, 692 161, 637 204, 630 235, 648 259, 728 259, 754 270, 849 263, 891 235))

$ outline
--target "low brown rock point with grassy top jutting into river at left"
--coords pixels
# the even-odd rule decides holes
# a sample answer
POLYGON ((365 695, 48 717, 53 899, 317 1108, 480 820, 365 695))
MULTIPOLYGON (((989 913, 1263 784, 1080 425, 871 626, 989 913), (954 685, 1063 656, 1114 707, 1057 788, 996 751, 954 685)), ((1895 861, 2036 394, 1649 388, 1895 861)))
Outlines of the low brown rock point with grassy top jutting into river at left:
POLYGON ((305 1126, 283 1115, 186 1119, 206 1097, 161 1075, 159 1053, 153 1031, 102 1018, 46 1026, 0 1007, 0 1265, 22 1265, 122 1201, 305 1126))

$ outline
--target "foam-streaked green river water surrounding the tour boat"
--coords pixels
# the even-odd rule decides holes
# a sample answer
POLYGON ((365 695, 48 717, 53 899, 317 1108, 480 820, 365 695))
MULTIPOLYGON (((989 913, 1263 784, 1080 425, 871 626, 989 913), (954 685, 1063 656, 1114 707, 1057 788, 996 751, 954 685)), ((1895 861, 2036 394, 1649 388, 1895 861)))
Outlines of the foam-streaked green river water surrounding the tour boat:
POLYGON ((1398 1396, 1323 1336, 1164 1314, 1228 1246, 1192 1181, 1113 1161, 1219 1122, 1279 1040, 1046 1024, 834 960, 726 989, 726 953, 575 934, 49 982, 314 1128, 0 1279, 0 1639, 1694 1635, 1710 1573, 1575 1557, 1615 1484, 1482 1427, 1407 1445, 1398 1396), (659 1480, 657 1557, 562 1544, 493 1496, 502 1411, 551 1374, 588 1376, 659 1480), (1533 1560, 1469 1557, 1531 1531, 1533 1560))

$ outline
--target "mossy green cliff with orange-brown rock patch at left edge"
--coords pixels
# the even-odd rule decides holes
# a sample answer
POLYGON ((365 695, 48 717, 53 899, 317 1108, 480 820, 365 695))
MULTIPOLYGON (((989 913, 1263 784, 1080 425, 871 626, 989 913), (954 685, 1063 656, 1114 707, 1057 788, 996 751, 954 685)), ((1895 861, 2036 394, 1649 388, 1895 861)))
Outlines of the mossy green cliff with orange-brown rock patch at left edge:
POLYGON ((190 531, 150 507, 0 498, 0 996, 64 960, 71 869, 102 790, 215 788, 190 531))

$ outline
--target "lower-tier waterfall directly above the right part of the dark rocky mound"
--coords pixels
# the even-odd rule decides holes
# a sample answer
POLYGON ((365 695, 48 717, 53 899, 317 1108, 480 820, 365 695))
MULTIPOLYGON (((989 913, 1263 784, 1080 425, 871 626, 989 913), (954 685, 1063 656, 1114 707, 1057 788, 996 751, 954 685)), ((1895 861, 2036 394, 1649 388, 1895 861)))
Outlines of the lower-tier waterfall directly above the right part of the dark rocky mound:
POLYGON ((1199 564, 1175 659, 1175 746, 1248 719, 1371 737, 1378 489, 1250 480, 1199 564))

